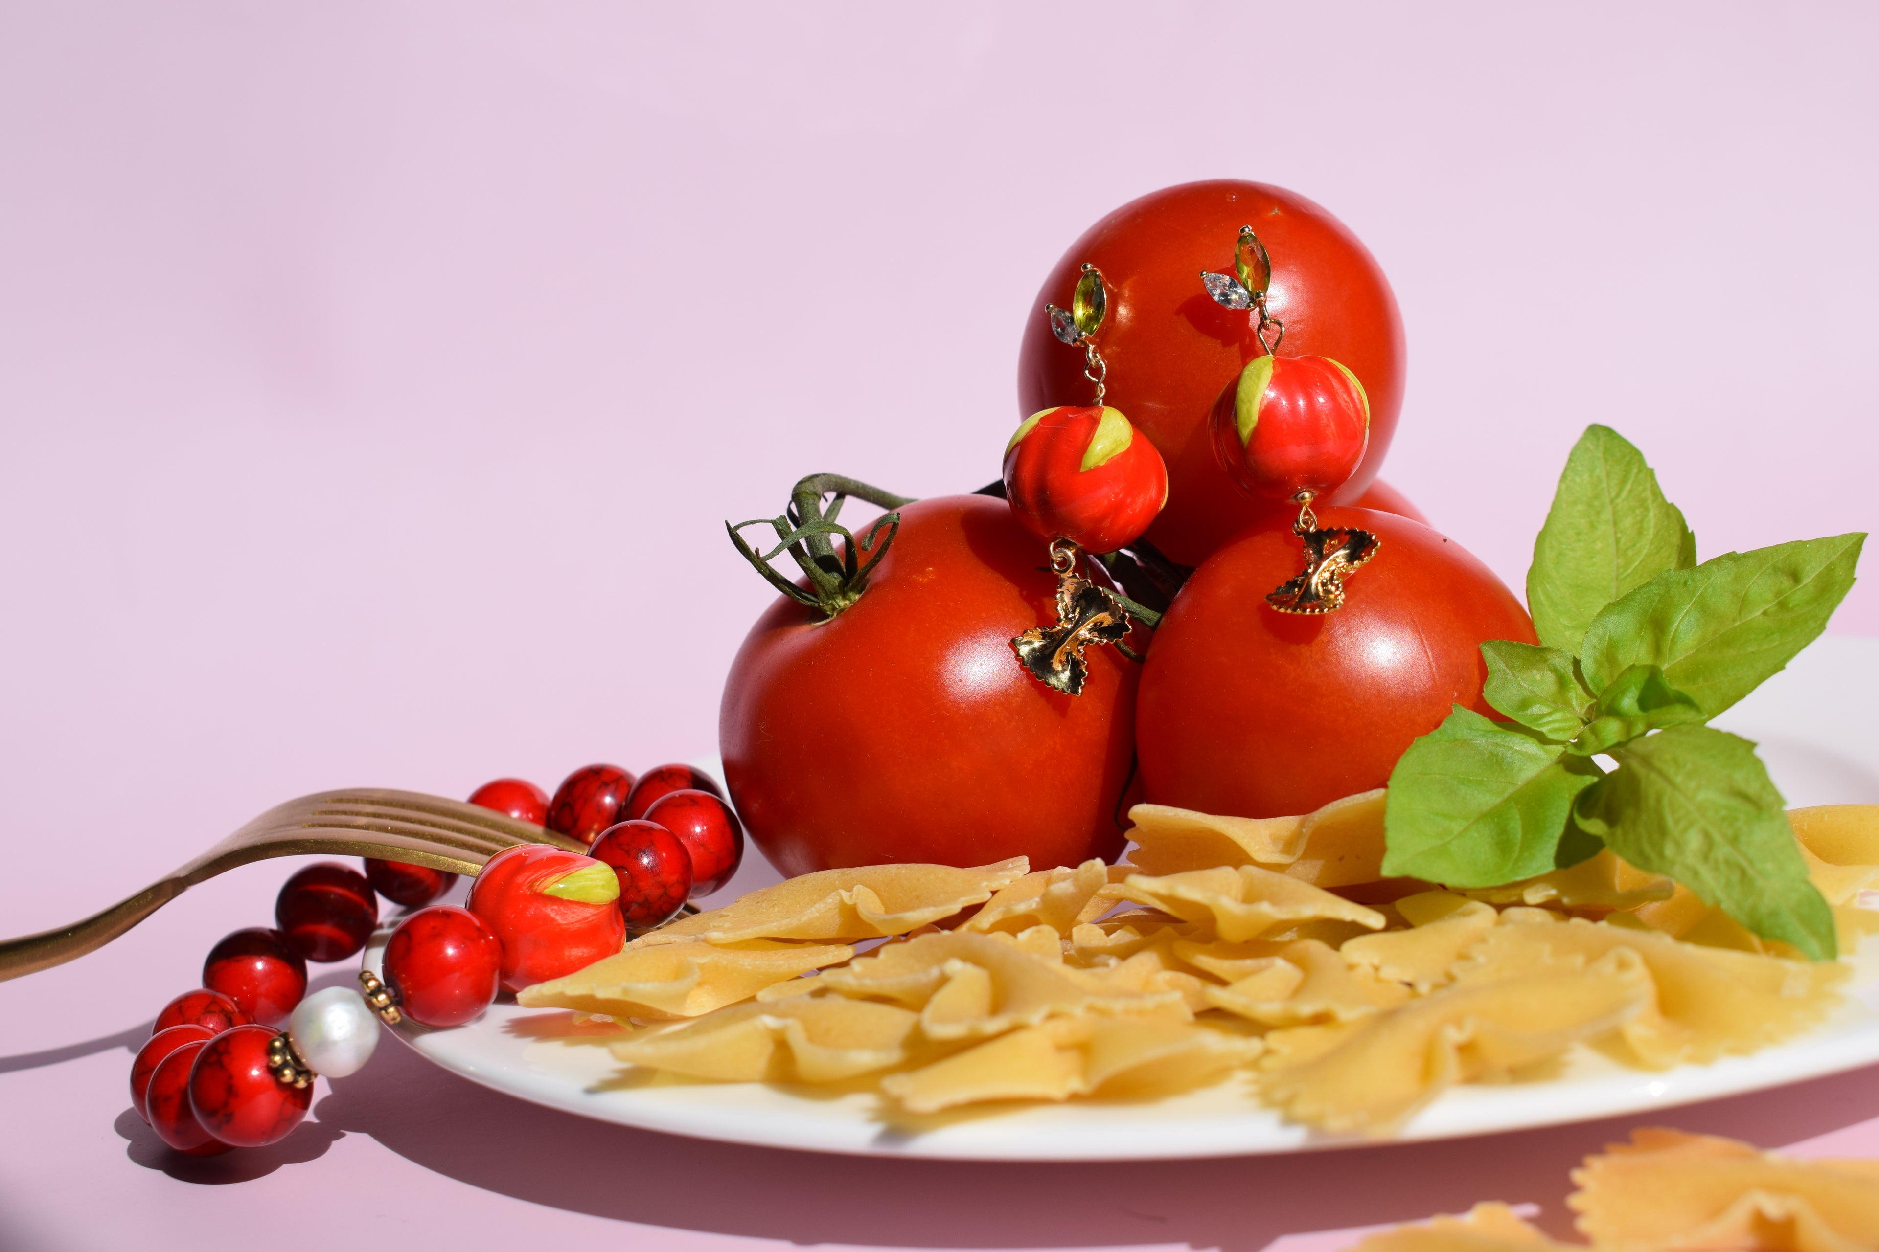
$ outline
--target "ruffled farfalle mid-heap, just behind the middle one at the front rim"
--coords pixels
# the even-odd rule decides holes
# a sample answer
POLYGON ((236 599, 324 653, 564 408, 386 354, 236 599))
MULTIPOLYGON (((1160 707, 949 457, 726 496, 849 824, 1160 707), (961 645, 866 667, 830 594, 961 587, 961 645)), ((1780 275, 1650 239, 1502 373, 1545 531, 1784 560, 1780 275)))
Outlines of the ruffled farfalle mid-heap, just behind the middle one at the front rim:
POLYGON ((1007 935, 923 935, 831 969, 817 982, 840 995, 919 1010, 930 1040, 988 1038, 1084 1012, 1188 1015, 1178 991, 1048 961, 1007 935))

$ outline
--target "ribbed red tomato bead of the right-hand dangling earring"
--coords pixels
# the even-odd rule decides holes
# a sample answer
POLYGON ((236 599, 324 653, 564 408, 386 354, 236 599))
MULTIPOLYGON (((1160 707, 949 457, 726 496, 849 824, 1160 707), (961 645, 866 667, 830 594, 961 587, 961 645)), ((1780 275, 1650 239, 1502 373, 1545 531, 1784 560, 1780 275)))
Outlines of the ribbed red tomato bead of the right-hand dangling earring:
POLYGON ((1214 452, 1248 496, 1328 496, 1364 460, 1370 400, 1330 357, 1257 357, 1219 392, 1214 452))

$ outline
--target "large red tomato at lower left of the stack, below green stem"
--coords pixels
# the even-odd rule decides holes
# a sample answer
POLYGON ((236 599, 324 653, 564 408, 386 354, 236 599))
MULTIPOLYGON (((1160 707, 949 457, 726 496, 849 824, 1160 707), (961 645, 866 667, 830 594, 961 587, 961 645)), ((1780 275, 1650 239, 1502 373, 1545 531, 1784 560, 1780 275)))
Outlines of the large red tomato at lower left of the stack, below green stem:
POLYGON ((1139 666, 1092 648, 1079 696, 1024 672, 1011 638, 1056 621, 1056 576, 1005 501, 900 518, 851 608, 778 599, 731 663, 718 738, 750 837, 785 875, 1116 856, 1139 666))

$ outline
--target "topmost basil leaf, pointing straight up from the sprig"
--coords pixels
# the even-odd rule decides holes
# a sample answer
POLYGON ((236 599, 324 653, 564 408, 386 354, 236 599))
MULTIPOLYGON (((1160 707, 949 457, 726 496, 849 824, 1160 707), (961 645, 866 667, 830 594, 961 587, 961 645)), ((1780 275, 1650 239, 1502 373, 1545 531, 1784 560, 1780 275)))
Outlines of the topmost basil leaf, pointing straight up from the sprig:
POLYGON ((1695 563, 1697 539, 1663 497, 1644 454, 1616 430, 1588 426, 1533 541, 1533 629, 1543 644, 1578 651, 1601 608, 1669 569, 1695 563))

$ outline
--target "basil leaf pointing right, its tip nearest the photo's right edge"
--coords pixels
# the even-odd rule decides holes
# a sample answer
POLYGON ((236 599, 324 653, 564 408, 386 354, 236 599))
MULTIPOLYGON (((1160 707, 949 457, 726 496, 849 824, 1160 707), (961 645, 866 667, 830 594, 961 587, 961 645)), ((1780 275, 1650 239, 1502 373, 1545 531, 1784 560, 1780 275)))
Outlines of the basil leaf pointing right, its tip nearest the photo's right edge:
POLYGON ((1586 631, 1586 683, 1603 691, 1627 666, 1655 664, 1716 717, 1826 629, 1862 542, 1862 533, 1804 539, 1657 574, 1586 631))

